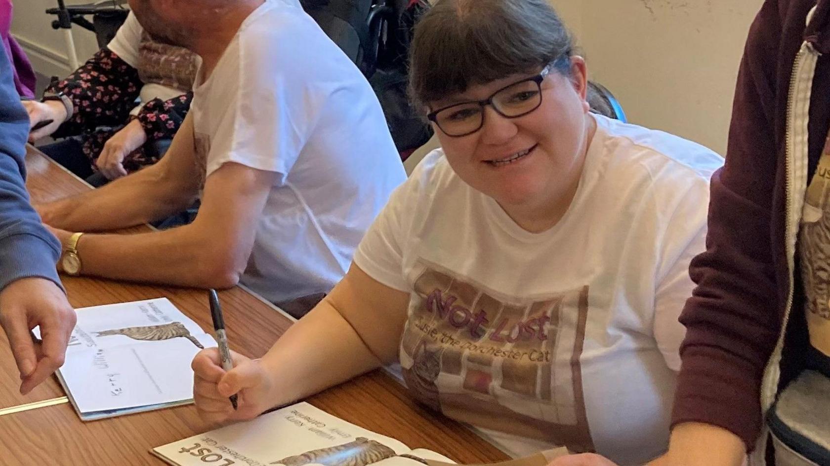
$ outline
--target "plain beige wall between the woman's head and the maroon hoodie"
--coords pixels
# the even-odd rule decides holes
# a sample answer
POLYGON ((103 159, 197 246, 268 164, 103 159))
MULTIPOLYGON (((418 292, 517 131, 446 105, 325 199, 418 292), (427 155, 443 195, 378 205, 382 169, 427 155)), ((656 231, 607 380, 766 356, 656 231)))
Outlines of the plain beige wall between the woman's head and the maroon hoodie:
POLYGON ((725 153, 735 77, 763 0, 551 0, 628 119, 725 153))

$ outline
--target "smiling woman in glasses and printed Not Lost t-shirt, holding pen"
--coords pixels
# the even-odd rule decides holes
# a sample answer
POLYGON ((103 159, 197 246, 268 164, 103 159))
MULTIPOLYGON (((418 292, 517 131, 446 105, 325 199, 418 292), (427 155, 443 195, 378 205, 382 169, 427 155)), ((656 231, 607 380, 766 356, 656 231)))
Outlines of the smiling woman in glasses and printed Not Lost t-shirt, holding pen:
POLYGON ((416 400, 513 455, 564 445, 624 465, 666 449, 677 317, 722 160, 589 114, 573 51, 547 0, 442 0, 422 17, 412 94, 442 149, 271 352, 227 376, 210 351, 194 362, 207 419, 242 386, 256 401, 233 419, 399 362, 416 400), (309 366, 286 356, 324 338, 339 344, 309 366))

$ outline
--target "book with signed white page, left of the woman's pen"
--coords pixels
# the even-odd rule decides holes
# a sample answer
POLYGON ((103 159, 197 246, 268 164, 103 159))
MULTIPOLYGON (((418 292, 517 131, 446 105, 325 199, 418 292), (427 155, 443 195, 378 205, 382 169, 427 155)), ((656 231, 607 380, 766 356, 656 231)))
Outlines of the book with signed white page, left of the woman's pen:
POLYGON ((81 420, 193 403, 190 362, 217 344, 168 299, 76 312, 66 362, 56 376, 81 420))

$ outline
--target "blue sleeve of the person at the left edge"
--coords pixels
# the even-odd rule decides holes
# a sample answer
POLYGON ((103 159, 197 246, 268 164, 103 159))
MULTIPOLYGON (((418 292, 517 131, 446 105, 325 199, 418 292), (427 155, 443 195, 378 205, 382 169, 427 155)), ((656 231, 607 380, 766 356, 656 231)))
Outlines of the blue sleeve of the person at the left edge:
POLYGON ((26 277, 61 286, 55 263, 61 245, 41 224, 24 185, 29 117, 12 80, 12 64, 0 47, 0 289, 26 277))

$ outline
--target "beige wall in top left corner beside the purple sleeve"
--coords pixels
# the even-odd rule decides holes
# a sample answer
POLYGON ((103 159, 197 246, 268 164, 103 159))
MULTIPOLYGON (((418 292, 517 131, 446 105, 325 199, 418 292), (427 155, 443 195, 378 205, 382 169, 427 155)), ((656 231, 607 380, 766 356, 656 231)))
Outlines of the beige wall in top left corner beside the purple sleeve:
MULTIPOLYGON (((44 75, 66 75, 71 70, 66 53, 64 32, 51 28, 51 21, 55 16, 46 15, 46 8, 56 7, 55 0, 12 0, 14 4, 14 20, 12 34, 26 49, 29 59, 35 69, 44 75)), ((87 3, 90 0, 66 0, 67 5, 87 3)), ((95 34, 87 32, 81 27, 72 27, 78 60, 83 62, 95 51, 98 45, 95 34)))

